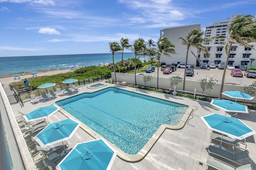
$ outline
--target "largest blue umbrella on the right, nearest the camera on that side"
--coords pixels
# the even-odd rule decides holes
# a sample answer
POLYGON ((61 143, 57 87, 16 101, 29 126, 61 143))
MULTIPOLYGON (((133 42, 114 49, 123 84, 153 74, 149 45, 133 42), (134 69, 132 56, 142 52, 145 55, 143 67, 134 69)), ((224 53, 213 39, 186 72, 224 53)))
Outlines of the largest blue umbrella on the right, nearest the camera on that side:
POLYGON ((228 135, 231 138, 244 139, 256 134, 250 127, 244 124, 240 119, 227 117, 212 113, 201 117, 206 126, 214 131, 228 135))

